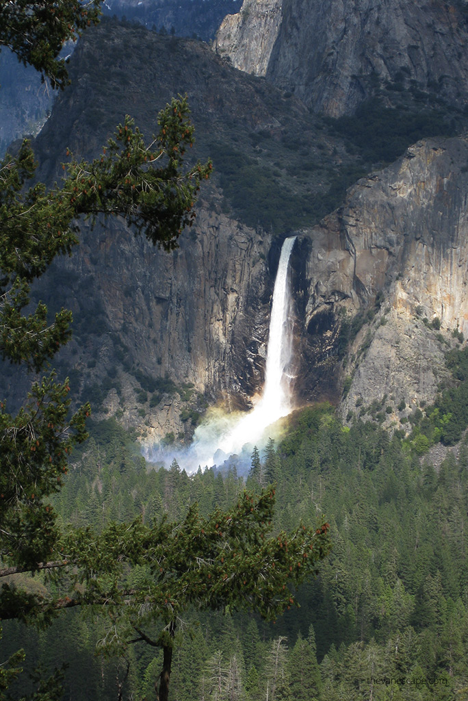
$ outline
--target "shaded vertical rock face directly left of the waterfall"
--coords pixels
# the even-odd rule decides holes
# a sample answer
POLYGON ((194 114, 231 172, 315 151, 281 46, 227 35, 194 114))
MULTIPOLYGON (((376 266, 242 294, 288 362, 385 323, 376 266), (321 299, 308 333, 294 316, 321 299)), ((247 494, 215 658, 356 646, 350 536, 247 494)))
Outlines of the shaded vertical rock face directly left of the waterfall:
MULTIPOLYGON (((268 238, 206 210, 170 253, 135 239, 120 222, 81 232, 52 285, 74 313, 66 360, 83 399, 104 387, 99 399, 111 414, 127 425, 146 418, 146 433, 158 437, 183 433, 179 414, 200 408, 200 395, 248 407, 266 355, 268 238)), ((47 298, 49 290, 50 297, 50 287, 44 279, 38 294, 47 298)))

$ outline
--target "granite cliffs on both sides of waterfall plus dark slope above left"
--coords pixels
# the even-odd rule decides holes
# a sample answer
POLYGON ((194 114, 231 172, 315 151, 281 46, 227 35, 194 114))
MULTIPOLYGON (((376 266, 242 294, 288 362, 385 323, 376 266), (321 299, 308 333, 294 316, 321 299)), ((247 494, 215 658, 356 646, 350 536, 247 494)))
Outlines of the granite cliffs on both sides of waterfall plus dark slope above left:
MULTIPOLYGON (((298 404, 328 399, 346 418, 393 397, 387 420, 397 424, 397 405, 431 399, 450 332, 468 331, 466 138, 418 142, 343 200, 355 149, 204 43, 108 20, 86 34, 70 69, 35 142, 41 179, 59 177, 67 147, 95 155, 126 113, 151 134, 177 93, 191 104, 195 156, 216 166, 178 250, 154 250, 121 222, 82 224, 73 257, 37 287, 74 312, 58 364, 95 417, 188 440, 208 404, 249 407, 291 233, 298 404)), ((3 385, 18 393, 14 375, 3 385)))

